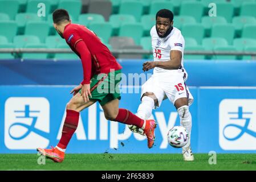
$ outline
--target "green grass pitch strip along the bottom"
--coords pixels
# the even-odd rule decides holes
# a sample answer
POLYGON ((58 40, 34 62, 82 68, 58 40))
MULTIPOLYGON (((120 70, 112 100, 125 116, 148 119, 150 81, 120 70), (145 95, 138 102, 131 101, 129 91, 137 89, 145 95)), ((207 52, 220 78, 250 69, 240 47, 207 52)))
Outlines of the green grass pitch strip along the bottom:
POLYGON ((0 170, 256 170, 256 154, 217 154, 210 165, 208 154, 194 154, 184 162, 181 154, 66 154, 62 163, 50 159, 38 164, 37 154, 0 154, 0 170))

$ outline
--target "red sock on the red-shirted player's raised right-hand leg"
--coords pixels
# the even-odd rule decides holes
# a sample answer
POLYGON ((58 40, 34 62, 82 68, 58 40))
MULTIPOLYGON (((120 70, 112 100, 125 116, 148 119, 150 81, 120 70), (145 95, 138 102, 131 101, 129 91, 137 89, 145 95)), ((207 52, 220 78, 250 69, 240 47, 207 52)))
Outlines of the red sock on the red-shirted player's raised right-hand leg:
POLYGON ((118 121, 127 125, 135 125, 137 127, 143 127, 144 120, 137 117, 137 115, 132 114, 131 111, 127 109, 119 109, 116 119, 113 121, 118 121))

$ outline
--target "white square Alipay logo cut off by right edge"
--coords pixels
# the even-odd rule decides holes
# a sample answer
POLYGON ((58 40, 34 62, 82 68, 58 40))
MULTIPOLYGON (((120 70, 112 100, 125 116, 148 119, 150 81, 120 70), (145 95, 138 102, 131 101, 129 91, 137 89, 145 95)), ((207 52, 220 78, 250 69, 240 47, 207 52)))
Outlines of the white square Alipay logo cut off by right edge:
POLYGON ((225 99, 219 109, 221 148, 256 150, 256 99, 225 99))

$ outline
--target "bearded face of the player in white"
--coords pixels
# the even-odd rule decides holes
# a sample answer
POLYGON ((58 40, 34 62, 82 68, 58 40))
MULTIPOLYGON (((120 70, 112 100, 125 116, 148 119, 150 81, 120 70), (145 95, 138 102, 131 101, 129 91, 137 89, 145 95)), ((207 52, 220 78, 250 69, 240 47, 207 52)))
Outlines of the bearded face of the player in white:
POLYGON ((173 21, 170 22, 169 18, 161 18, 157 17, 156 19, 156 30, 157 34, 159 35, 160 38, 164 38, 166 32, 169 30, 169 28, 172 26, 173 21))

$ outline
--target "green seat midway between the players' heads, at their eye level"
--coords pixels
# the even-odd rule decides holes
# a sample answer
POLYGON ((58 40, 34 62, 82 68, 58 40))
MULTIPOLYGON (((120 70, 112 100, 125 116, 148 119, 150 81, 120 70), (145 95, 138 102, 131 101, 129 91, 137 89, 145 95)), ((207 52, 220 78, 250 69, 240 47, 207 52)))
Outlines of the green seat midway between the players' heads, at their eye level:
POLYGON ((111 15, 109 17, 109 23, 111 23, 113 27, 112 35, 118 35, 121 24, 136 23, 136 19, 132 15, 117 14, 117 15, 111 15))

